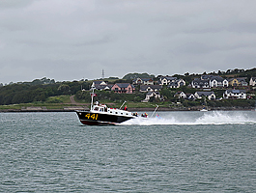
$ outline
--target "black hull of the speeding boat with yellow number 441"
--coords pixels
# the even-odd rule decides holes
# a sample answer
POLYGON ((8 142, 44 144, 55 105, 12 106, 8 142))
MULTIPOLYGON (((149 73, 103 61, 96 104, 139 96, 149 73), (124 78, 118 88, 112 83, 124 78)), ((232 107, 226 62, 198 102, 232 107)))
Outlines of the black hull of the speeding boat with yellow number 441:
POLYGON ((81 124, 86 125, 107 125, 107 124, 121 124, 135 117, 109 115, 106 113, 98 113, 91 111, 76 111, 76 114, 81 124))

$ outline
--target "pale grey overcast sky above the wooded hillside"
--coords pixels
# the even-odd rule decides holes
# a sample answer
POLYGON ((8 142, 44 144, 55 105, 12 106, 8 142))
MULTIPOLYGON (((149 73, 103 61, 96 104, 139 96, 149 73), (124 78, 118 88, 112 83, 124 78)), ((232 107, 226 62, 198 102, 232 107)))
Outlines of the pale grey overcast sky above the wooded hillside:
POLYGON ((0 83, 256 67, 255 0, 1 0, 0 83))

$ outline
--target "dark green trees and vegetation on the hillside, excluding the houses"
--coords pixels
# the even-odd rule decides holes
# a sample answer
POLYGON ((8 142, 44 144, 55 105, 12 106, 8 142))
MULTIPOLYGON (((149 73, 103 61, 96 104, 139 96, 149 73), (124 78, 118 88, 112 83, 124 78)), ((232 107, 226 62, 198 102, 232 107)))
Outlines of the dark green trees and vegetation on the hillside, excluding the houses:
MULTIPOLYGON (((204 72, 203 74, 206 74, 204 72)), ((222 77, 247 77, 247 81, 249 81, 250 77, 256 77, 256 68, 254 69, 228 69, 227 71, 220 71, 218 72, 211 72, 209 74, 216 74, 220 75, 222 77)), ((184 75, 181 74, 175 74, 173 76, 178 78, 183 78, 187 83, 191 82, 194 78, 200 77, 202 74, 189 74, 188 72, 184 75)), ((159 75, 158 75, 159 76, 159 75)), ((157 77, 158 77, 157 76, 157 77)), ((111 84, 115 84, 117 82, 132 82, 132 78, 140 77, 140 78, 154 78, 155 80, 157 77, 155 75, 150 75, 148 73, 128 73, 126 74, 122 79, 119 79, 117 77, 109 77, 105 78, 105 81, 108 81, 111 84)), ((88 92, 81 92, 81 90, 89 90, 90 85, 92 84, 93 80, 81 80, 81 81, 64 81, 64 82, 55 82, 54 79, 48 79, 48 78, 42 78, 42 79, 36 79, 32 82, 18 82, 18 83, 12 83, 7 86, 0 86, 0 105, 9 105, 9 104, 19 104, 19 103, 31 103, 31 102, 50 102, 50 103, 61 103, 63 102, 61 99, 50 99, 53 98, 53 96, 73 96, 75 95, 76 99, 80 102, 88 102, 88 99, 90 99, 90 96, 88 92)), ((191 90, 187 87, 183 88, 185 92, 192 93, 194 90, 191 90)), ((136 90, 136 93, 133 95, 119 95, 112 92, 99 92, 99 99, 103 100, 105 102, 116 102, 119 103, 121 101, 127 100, 130 102, 140 103, 142 99, 145 98, 144 93, 139 93, 138 88, 136 90)), ((170 102, 179 102, 173 95, 175 92, 178 91, 177 89, 171 89, 171 90, 163 90, 161 92, 161 95, 163 95, 165 98, 169 99, 167 100, 166 104, 164 106, 170 106, 170 102), (169 102, 169 103, 168 103, 169 102)), ((220 93, 218 91, 215 91, 216 94, 220 93)), ((219 94, 219 96, 221 96, 219 94)), ((253 99, 253 97, 252 97, 253 99)), ((241 100, 242 101, 242 100, 241 100)), ((254 102, 246 102, 244 101, 243 104, 237 102, 238 105, 242 106, 254 106, 254 102)), ((153 101, 150 102, 158 102, 159 101, 153 101)), ((182 101, 184 106, 196 106, 200 105, 200 101, 195 102, 184 102, 182 101)), ((236 102, 235 102, 236 103, 236 102)), ((232 106, 234 105, 234 102, 226 102, 224 104, 223 102, 212 102, 210 103, 212 106, 232 106)))

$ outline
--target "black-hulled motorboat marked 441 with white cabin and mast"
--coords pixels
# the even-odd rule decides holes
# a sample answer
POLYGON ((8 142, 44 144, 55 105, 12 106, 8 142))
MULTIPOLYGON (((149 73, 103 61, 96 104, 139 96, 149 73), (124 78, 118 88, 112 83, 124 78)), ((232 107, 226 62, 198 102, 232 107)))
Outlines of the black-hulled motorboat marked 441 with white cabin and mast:
POLYGON ((128 110, 120 108, 109 108, 105 104, 100 104, 99 101, 94 103, 95 87, 92 86, 91 93, 91 109, 90 110, 77 110, 76 114, 81 124, 86 125, 107 125, 107 124, 121 124, 128 120, 136 118, 137 113, 129 112, 128 110))

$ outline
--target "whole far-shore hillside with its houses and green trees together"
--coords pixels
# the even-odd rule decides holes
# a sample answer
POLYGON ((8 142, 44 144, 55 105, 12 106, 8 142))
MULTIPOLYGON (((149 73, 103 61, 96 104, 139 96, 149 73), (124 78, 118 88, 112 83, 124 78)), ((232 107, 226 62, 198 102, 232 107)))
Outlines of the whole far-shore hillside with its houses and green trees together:
POLYGON ((63 102, 57 96, 73 96, 80 103, 89 102, 94 87, 104 102, 162 103, 167 107, 193 108, 209 105, 212 108, 255 107, 256 69, 228 69, 227 71, 184 75, 153 75, 128 73, 96 80, 55 82, 46 77, 32 82, 0 85, 0 105, 28 102, 63 102), (126 94, 126 95, 125 95, 126 94), (89 96, 89 97, 88 97, 89 96))

